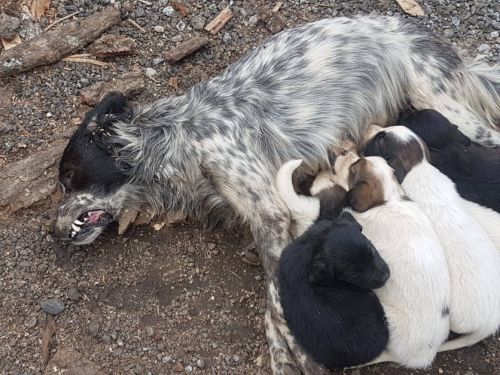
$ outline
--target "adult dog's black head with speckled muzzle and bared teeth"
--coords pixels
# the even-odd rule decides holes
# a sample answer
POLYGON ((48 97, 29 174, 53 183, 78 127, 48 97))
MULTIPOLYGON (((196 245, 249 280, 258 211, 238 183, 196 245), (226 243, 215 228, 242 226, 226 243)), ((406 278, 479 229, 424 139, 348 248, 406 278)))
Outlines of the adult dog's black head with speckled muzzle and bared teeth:
POLYGON ((128 178, 115 159, 112 125, 130 116, 125 97, 109 94, 69 140, 59 164, 64 197, 53 225, 58 239, 90 243, 119 215, 128 178))

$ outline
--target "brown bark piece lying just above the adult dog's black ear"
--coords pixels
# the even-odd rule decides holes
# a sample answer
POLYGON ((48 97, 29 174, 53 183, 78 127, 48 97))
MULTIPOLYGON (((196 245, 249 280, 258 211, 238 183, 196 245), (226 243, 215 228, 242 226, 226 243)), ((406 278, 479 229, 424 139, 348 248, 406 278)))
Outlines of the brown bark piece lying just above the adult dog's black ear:
POLYGON ((144 90, 144 77, 140 72, 125 73, 108 82, 97 82, 80 92, 82 102, 94 105, 110 92, 121 92, 125 96, 144 90))

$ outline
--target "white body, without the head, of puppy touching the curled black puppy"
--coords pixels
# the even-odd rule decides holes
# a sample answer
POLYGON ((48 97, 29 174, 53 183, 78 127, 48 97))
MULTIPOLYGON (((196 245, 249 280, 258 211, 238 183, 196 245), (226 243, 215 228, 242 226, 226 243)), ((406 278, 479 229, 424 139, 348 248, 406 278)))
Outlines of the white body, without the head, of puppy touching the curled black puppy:
POLYGON ((410 201, 353 215, 391 269, 376 290, 390 324, 388 350, 405 366, 425 368, 449 333, 450 280, 432 225, 410 201))

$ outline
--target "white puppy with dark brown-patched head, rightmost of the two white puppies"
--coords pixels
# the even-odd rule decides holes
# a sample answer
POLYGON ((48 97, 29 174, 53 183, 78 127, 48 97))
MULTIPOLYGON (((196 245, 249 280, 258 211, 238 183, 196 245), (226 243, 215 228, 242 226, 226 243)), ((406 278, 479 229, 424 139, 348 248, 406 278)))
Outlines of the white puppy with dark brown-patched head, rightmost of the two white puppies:
POLYGON ((408 128, 371 127, 365 155, 385 158, 408 197, 430 219, 445 251, 451 281, 450 329, 466 334, 441 351, 477 343, 500 326, 500 254, 469 215, 453 182, 427 162, 426 147, 408 128))

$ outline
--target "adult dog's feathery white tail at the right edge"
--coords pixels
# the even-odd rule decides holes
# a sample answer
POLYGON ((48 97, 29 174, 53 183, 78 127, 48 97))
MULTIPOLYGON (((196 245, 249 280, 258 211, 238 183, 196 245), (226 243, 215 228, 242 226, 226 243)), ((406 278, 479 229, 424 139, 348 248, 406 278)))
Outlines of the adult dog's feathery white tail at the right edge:
POLYGON ((491 125, 500 124, 500 65, 489 66, 482 59, 466 64, 460 90, 469 105, 491 125))

